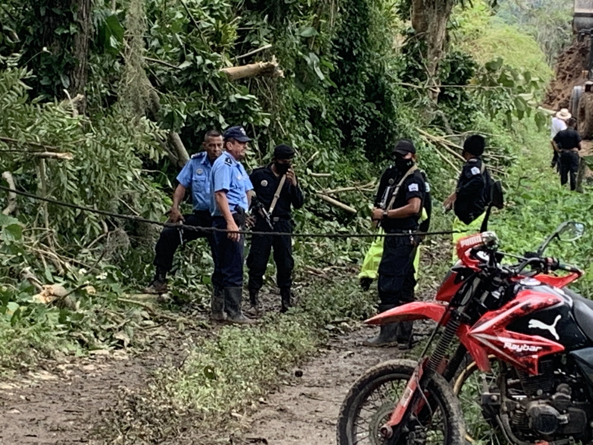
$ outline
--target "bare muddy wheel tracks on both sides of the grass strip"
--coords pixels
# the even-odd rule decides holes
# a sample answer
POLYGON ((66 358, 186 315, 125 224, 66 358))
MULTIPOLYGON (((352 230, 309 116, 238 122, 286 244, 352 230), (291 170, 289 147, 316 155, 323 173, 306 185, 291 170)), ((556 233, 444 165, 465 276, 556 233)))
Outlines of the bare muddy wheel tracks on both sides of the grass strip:
MULTIPOLYGON (((428 325, 418 327, 427 332, 428 325)), ((375 331, 361 327, 333 336, 317 357, 285 376, 260 399, 251 417, 242 419, 250 425, 243 437, 222 443, 334 444, 337 414, 349 386, 367 368, 402 355, 397 348, 364 347, 362 341, 375 331)), ((103 413, 123 392, 141 389, 155 368, 187 347, 192 335, 163 338, 151 351, 136 355, 111 351, 62 363, 44 361, 44 369, 5 379, 0 384, 0 444, 106 443, 93 431, 103 413)))

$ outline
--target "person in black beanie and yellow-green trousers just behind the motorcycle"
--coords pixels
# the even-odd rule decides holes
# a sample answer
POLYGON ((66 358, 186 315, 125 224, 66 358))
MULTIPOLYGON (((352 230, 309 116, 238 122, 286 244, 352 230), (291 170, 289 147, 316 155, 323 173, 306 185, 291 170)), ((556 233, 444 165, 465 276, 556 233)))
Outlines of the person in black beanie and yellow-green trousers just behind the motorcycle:
POLYGON ((471 232, 480 231, 484 213, 490 204, 492 177, 482 160, 485 148, 483 136, 471 135, 466 139, 461 153, 466 164, 457 180, 455 192, 443 203, 445 211, 453 209, 455 212, 453 230, 463 232, 453 234, 453 262, 457 261, 457 241, 471 232))

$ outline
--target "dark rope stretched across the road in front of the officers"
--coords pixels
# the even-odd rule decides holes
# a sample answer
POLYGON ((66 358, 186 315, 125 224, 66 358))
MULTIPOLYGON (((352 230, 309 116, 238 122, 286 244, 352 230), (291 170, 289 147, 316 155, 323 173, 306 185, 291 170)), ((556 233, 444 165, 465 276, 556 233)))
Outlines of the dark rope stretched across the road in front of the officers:
MULTIPOLYGON (((25 196, 27 198, 36 199, 37 201, 47 202, 49 204, 59 205, 62 207, 68 207, 71 209, 80 210, 83 212, 94 213, 97 215, 103 215, 106 217, 117 218, 120 220, 127 220, 127 221, 135 221, 135 222, 145 222, 147 224, 154 224, 160 225, 161 227, 172 227, 172 228, 183 228, 183 230, 193 230, 193 231, 200 231, 200 232, 227 232, 231 233, 230 230, 216 228, 216 227, 200 227, 197 225, 186 225, 186 224, 179 224, 174 222, 161 222, 155 220, 149 220, 148 218, 142 218, 135 215, 123 215, 114 212, 108 212, 105 210, 98 210, 91 207, 80 206, 77 204, 72 204, 70 202, 63 202, 58 201, 56 199, 51 198, 43 198, 42 196, 33 195, 33 193, 28 192, 21 192, 20 190, 11 189, 9 187, 1 186, 0 190, 4 190, 5 192, 9 193, 16 193, 20 196, 25 196)), ((292 236, 295 238, 326 238, 326 239, 347 239, 347 238, 388 238, 388 237, 401 237, 401 236, 410 236, 417 235, 417 236, 437 236, 437 235, 451 235, 454 233, 466 233, 466 231, 458 231, 458 230, 447 230, 447 231, 433 231, 433 232, 411 232, 411 233, 288 233, 288 232, 260 232, 260 231, 251 231, 251 230, 238 230, 232 231, 232 233, 239 233, 242 235, 267 235, 267 236, 292 236)))

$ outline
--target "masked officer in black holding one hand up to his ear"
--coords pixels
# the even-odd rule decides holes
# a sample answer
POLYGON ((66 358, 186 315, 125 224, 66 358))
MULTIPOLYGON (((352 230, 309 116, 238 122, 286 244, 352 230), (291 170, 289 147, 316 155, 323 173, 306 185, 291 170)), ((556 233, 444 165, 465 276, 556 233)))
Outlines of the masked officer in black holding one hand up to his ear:
MULTIPOLYGON (((270 223, 273 226, 272 229, 262 212, 254 212, 256 214, 254 231, 292 232, 291 206, 299 209, 304 204, 303 193, 291 167, 294 154, 295 151, 292 147, 278 145, 274 148, 273 162, 269 166, 253 170, 251 173, 250 180, 253 190, 256 192, 254 201, 259 201, 263 211, 269 214, 270 223), (280 187, 281 183, 282 187, 280 187), (270 209, 270 206, 273 208, 270 209)), ((254 235, 251 238, 251 249, 247 256, 251 313, 259 313, 259 291, 263 285, 263 275, 266 273, 272 249, 277 269, 276 284, 280 288, 282 301, 280 310, 285 312, 291 307, 292 269, 294 268, 292 238, 290 236, 254 235)))

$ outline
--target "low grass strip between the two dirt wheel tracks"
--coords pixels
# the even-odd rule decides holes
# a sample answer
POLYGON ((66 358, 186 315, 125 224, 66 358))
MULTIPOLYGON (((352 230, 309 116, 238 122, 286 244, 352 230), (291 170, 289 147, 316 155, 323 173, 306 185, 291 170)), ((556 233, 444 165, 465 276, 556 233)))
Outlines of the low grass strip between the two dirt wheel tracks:
POLYGON ((328 333, 352 329, 374 311, 352 275, 315 282, 299 307, 269 314, 258 326, 226 326, 201 338, 181 366, 161 368, 142 393, 126 395, 99 428, 109 443, 215 443, 211 431, 241 428, 233 412, 250 409, 292 367, 311 358, 328 333), (119 431, 119 434, 114 433, 119 431))

